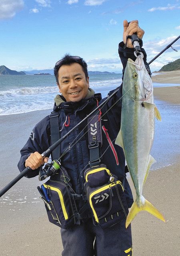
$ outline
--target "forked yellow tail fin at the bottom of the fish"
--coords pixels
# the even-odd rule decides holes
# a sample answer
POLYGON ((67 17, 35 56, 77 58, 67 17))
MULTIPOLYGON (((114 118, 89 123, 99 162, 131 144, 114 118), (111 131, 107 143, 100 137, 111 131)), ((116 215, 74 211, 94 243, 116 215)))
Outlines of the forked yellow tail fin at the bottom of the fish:
POLYGON ((136 197, 136 200, 134 201, 134 203, 132 204, 132 207, 131 207, 130 212, 126 219, 126 228, 129 226, 129 224, 132 222, 132 220, 135 218, 135 216, 140 211, 149 212, 152 215, 154 215, 156 218, 158 218, 164 222, 166 221, 164 219, 164 216, 150 202, 148 202, 148 200, 146 200, 143 196, 141 196, 141 199, 143 199, 144 204, 142 204, 142 201, 141 201, 140 207, 137 204, 137 197, 136 197))

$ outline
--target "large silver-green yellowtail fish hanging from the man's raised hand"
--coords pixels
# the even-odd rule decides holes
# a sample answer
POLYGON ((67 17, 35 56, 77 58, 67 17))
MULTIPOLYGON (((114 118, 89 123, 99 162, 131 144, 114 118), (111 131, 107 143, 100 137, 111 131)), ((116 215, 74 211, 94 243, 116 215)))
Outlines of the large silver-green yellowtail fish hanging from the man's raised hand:
POLYGON ((144 65, 143 54, 135 62, 128 59, 122 90, 121 128, 115 143, 124 150, 136 190, 136 199, 127 216, 126 228, 136 214, 143 210, 165 222, 162 214, 142 196, 150 166, 156 162, 150 155, 154 137, 154 116, 161 120, 154 105, 152 80, 144 65))

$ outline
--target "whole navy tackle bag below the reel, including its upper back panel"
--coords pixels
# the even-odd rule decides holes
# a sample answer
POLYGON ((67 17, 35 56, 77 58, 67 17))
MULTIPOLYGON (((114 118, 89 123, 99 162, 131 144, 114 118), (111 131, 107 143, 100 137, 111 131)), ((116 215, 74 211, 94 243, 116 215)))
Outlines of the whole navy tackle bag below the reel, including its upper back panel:
POLYGON ((62 166, 53 176, 53 180, 51 178, 38 187, 40 198, 44 201, 49 221, 60 228, 68 229, 75 224, 77 212, 71 197, 73 190, 70 186, 70 178, 62 166))

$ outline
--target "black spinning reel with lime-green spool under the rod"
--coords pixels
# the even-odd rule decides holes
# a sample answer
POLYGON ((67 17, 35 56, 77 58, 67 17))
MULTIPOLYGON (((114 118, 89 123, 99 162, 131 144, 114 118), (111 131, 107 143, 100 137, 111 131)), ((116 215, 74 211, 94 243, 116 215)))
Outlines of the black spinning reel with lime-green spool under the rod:
POLYGON ((53 160, 51 163, 46 164, 39 172, 39 180, 45 180, 54 175, 60 169, 60 165, 58 160, 53 160))

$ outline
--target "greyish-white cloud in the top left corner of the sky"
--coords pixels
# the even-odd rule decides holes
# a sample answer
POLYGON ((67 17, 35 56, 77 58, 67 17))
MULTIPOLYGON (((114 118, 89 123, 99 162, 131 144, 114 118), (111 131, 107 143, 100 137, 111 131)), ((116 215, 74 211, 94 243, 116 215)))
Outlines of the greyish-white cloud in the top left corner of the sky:
POLYGON ((0 1, 0 19, 12 18, 24 7, 23 0, 0 1))

